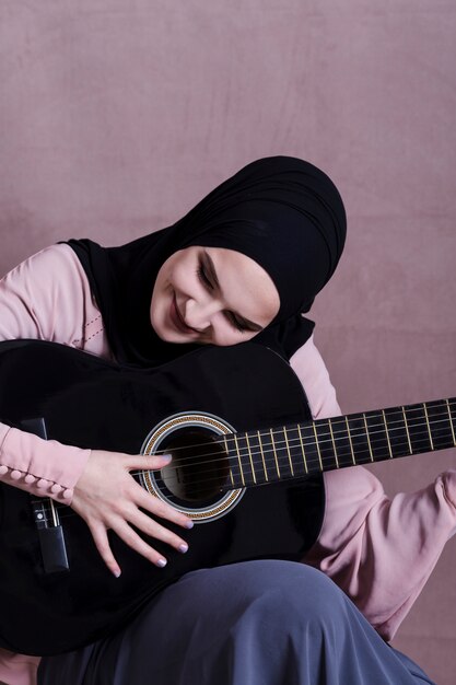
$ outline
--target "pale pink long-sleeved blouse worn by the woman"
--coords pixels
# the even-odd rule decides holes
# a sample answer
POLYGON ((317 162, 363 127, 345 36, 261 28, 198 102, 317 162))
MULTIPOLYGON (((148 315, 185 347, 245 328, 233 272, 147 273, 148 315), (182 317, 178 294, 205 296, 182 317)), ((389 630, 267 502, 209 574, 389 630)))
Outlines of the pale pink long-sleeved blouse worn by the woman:
MULTIPOLYGON (((87 278, 68 245, 43 249, 0 281, 0 340, 16 338, 51 340, 112 358, 87 278)), ((314 418, 340 415, 312 338, 292 357, 291 367, 314 418)), ((28 492, 71 503, 89 454, 0 423, 0 478, 28 492)), ((323 529, 304 561, 332 578, 389 640, 456 530, 456 471, 391 500, 361 466, 326 473, 324 480, 323 529)), ((35 685, 38 663, 38 658, 0 649, 0 683, 35 685)))

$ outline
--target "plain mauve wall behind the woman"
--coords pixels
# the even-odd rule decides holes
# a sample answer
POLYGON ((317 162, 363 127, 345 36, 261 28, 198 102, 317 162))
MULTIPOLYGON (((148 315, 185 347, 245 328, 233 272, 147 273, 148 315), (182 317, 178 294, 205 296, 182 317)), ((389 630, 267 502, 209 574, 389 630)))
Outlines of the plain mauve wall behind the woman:
MULTIPOLYGON (((245 163, 336 181, 349 240, 314 316, 349 410, 456 394, 454 0, 0 3, 0 268, 166 225, 245 163)), ((377 468, 389 492, 454 452, 377 468)), ((405 532, 407 534, 407 532, 405 532)), ((456 671, 456 543, 395 645, 456 671)))

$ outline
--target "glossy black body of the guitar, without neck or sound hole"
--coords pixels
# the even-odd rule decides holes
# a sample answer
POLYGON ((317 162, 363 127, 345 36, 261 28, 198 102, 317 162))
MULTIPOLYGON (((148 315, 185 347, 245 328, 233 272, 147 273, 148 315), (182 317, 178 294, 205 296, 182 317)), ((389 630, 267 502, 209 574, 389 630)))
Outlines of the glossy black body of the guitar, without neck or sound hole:
MULTIPOLYGON (((290 367, 254 344, 202 348, 137 371, 51 342, 8 341, 0 344, 0 387, 3 420, 20 426, 44 417, 48 439, 131 454, 141 452, 154 427, 182 413, 220 417, 236 431, 311 419, 290 367)), ((320 477, 247 488, 224 515, 188 532, 178 529, 189 543, 186 555, 153 541, 168 558, 164 569, 113 535, 122 569, 116 579, 85 523, 65 515, 73 513, 67 507, 59 512, 70 568, 46 573, 33 498, 2 484, 0 646, 40 655, 68 651, 115 631, 191 570, 258 558, 300 560, 318 534, 323 497, 320 477)))

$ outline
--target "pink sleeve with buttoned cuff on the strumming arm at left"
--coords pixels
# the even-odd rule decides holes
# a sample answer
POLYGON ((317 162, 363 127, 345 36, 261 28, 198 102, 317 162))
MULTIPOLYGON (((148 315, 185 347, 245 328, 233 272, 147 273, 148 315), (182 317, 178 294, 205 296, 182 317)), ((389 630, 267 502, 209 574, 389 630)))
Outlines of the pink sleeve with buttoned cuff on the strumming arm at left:
MULTIPOLYGON (((0 281, 0 340, 51 340, 104 353, 101 330, 87 280, 68 245, 43 249, 0 281)), ((0 478, 35 495, 70 503, 89 454, 0 423, 0 478)))

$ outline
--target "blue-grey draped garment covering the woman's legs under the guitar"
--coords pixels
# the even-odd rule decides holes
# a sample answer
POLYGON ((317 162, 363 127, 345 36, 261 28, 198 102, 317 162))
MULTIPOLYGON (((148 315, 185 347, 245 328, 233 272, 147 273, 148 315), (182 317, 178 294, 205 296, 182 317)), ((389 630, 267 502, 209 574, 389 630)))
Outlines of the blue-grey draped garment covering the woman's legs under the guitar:
POLYGON ((422 685, 326 576, 291 561, 188 573, 122 629, 43 659, 39 685, 422 685))

